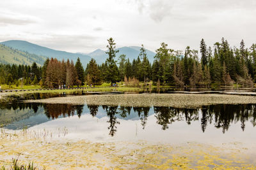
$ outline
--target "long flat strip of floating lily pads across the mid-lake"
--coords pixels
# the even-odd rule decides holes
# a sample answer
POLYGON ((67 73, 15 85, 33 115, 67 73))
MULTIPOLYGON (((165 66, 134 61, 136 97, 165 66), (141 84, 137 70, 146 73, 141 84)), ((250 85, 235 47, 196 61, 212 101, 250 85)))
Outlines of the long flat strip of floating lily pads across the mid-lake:
POLYGON ((256 104, 255 96, 234 94, 115 94, 52 97, 28 100, 25 103, 88 104, 109 106, 168 106, 175 108, 198 108, 214 104, 256 104))

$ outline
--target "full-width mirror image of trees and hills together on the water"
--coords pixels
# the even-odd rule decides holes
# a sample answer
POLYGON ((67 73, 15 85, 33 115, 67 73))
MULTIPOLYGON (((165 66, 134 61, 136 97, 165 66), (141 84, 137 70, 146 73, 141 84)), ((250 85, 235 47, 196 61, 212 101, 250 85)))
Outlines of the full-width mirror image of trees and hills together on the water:
POLYGON ((142 129, 147 129, 147 121, 150 115, 156 118, 156 125, 161 125, 164 131, 169 129, 174 122, 200 123, 202 132, 207 125, 213 124, 216 129, 221 129, 223 134, 228 131, 230 125, 239 122, 244 131, 246 122, 253 127, 256 125, 255 104, 218 104, 202 106, 198 109, 184 109, 172 107, 124 107, 124 106, 95 106, 72 104, 40 104, 40 103, 0 103, 0 125, 10 129, 20 129, 26 124, 33 126, 42 124, 57 118, 81 117, 90 113, 92 117, 107 117, 109 135, 115 136, 120 120, 140 120, 142 129), (101 116, 100 116, 100 114, 101 116), (40 121, 36 118, 40 115, 40 121), (42 120, 42 115, 45 119, 42 120), (33 122, 34 121, 34 122, 33 122), (10 124, 10 125, 6 125, 10 124), (15 125, 14 125, 15 124, 15 125))

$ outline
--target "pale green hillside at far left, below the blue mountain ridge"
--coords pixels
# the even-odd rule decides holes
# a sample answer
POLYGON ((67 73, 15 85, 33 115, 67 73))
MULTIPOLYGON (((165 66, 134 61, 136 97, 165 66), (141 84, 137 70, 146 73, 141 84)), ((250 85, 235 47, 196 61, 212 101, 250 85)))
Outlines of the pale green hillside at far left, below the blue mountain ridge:
POLYGON ((32 65, 36 62, 38 66, 42 66, 45 57, 31 54, 28 52, 21 52, 12 47, 0 44, 0 63, 2 64, 24 64, 32 65))

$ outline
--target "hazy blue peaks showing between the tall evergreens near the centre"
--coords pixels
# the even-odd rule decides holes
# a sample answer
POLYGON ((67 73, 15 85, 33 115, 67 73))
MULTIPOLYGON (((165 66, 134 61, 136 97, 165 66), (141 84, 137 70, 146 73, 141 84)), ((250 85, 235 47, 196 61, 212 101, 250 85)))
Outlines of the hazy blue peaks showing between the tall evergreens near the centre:
MULTIPOLYGON (((133 59, 137 59, 140 55, 140 48, 140 46, 124 46, 122 48, 118 48, 117 50, 119 50, 119 52, 116 55, 116 60, 120 55, 125 54, 126 58, 129 58, 130 62, 132 62, 133 59)), ((152 63, 154 61, 154 56, 156 55, 156 53, 150 50, 146 50, 146 52, 148 60, 152 63)), ((86 55, 89 55, 90 57, 95 59, 97 63, 102 63, 108 58, 108 54, 106 54, 104 50, 100 49, 97 49, 91 53, 87 53, 86 55)))

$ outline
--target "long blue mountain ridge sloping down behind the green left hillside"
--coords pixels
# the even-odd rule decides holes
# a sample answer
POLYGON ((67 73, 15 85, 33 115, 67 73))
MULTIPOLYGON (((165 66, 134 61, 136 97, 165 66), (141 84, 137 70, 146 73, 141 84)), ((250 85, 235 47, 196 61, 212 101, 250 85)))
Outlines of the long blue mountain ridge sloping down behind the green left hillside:
POLYGON ((28 41, 10 40, 10 41, 4 41, 1 44, 4 44, 6 46, 11 46, 12 48, 16 48, 21 51, 33 53, 36 55, 43 55, 49 58, 54 57, 58 60, 70 59, 76 62, 77 58, 79 57, 84 66, 86 66, 86 64, 91 60, 91 57, 88 55, 84 55, 81 53, 69 53, 64 51, 52 50, 51 48, 35 45, 33 43, 29 43, 28 41))

